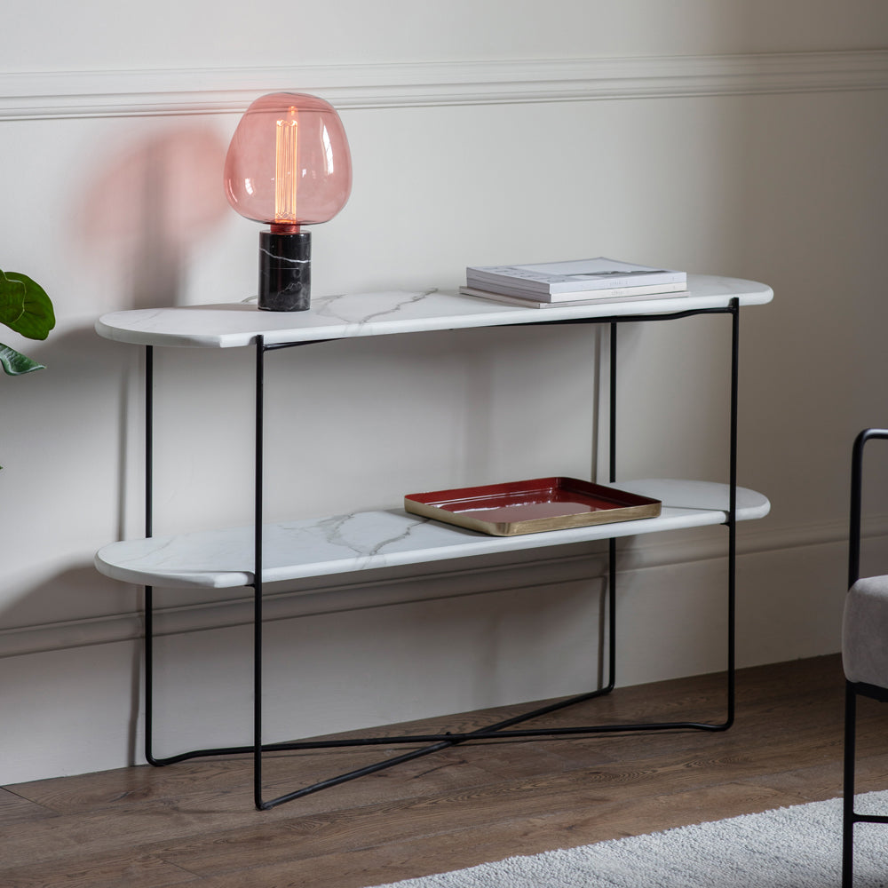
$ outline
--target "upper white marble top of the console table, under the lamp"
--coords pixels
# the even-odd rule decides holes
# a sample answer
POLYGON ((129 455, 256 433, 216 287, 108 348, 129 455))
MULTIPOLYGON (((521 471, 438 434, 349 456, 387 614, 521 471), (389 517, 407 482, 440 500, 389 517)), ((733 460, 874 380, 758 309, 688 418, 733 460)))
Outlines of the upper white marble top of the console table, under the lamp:
POLYGON ((770 287, 739 278, 688 275, 686 295, 601 305, 523 308, 438 290, 353 293, 314 297, 307 312, 261 312, 254 303, 181 305, 105 314, 99 336, 133 345, 228 348, 251 345, 261 334, 266 345, 319 339, 380 336, 423 330, 499 327, 579 318, 628 317, 723 308, 733 297, 741 305, 763 305, 770 287))

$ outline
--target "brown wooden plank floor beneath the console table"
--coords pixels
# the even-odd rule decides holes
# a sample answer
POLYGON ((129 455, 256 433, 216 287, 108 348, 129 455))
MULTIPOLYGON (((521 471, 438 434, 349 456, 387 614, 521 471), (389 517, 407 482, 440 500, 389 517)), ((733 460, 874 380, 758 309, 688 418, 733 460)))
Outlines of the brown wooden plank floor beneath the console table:
MULTIPOLYGON (((0 885, 364 888, 840 795, 838 658, 741 670, 737 687, 726 733, 464 745, 270 812, 253 809, 243 759, 5 787, 0 885)), ((720 676, 618 689, 549 718, 718 720, 723 690, 720 676)), ((508 711, 446 726, 472 728, 508 711)), ((885 727, 888 707, 861 700, 859 791, 888 788, 885 727)), ((270 791, 382 754, 281 755, 267 768, 270 791)))

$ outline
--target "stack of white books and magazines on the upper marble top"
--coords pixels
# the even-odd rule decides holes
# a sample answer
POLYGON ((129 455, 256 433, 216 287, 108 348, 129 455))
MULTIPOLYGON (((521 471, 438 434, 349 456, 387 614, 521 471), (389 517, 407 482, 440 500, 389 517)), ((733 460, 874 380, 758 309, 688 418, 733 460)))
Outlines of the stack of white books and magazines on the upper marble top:
POLYGON ((465 284, 459 289, 465 296, 554 308, 685 296, 687 275, 599 256, 528 266, 470 266, 465 284))

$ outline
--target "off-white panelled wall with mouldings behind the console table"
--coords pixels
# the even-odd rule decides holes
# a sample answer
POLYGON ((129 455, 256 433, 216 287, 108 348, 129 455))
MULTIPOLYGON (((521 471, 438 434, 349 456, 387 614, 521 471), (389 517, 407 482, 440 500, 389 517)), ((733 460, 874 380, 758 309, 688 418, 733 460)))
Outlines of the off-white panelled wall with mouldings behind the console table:
MULTIPOLYGON (((59 327, 0 330, 47 365, 0 380, 0 782, 141 760, 140 592, 91 567, 141 533, 141 355, 92 324, 250 295, 258 228, 219 169, 242 108, 284 87, 333 100, 353 148, 352 199, 313 236, 318 294, 594 254, 773 286, 741 318, 741 483, 773 512, 741 528, 738 654, 837 649, 848 450, 885 423, 883 3, 337 2, 268 28, 233 4, 93 0, 54 4, 50 34, 13 5, 0 267, 44 284, 59 327)), ((725 479, 727 347, 725 319, 623 329, 624 477, 725 479)), ((591 329, 275 356, 268 515, 588 477, 598 359, 591 329)), ((157 360, 155 529, 249 520, 250 354, 157 360)), ((876 569, 888 521, 868 511, 876 569)), ((724 537, 624 547, 623 683, 723 668, 724 537)), ((267 733, 583 689, 602 570, 598 550, 545 551, 274 591, 267 733)), ((158 751, 248 741, 244 591, 159 594, 158 751)))

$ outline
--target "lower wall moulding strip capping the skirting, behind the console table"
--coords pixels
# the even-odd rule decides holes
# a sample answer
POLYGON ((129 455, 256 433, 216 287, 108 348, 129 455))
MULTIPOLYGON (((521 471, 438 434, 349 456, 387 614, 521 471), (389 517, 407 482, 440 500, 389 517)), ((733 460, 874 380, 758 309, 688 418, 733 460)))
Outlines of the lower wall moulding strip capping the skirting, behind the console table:
MULTIPOLYGON (((742 523, 739 527, 737 552, 741 558, 755 558, 773 553, 789 553, 812 546, 847 547, 845 521, 812 524, 800 527, 767 528, 759 522, 742 523)), ((888 540, 888 515, 868 517, 865 540, 888 540)), ((725 559, 726 537, 718 528, 704 528, 681 535, 654 534, 620 541, 618 570, 622 573, 687 565, 712 559, 725 559)), ((388 607, 432 599, 460 598, 509 591, 520 588, 558 585, 561 583, 603 583, 607 573, 607 553, 603 543, 577 546, 570 555, 550 550, 543 558, 539 553, 522 553, 524 558, 509 563, 482 567, 457 568, 430 565, 426 573, 403 575, 403 572, 376 572, 376 578, 356 583, 336 576, 318 578, 317 584, 301 588, 268 591, 266 587, 266 620, 292 620, 317 614, 337 613, 368 607, 388 607)), ((136 601, 138 592, 133 591, 136 601)), ((159 635, 224 629, 249 625, 252 620, 250 592, 241 596, 198 604, 157 609, 156 630, 159 635)), ((142 636, 142 619, 137 611, 124 614, 74 620, 46 622, 39 625, 0 630, 0 659, 4 657, 42 654, 71 647, 114 644, 133 641, 142 636)))

